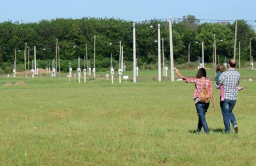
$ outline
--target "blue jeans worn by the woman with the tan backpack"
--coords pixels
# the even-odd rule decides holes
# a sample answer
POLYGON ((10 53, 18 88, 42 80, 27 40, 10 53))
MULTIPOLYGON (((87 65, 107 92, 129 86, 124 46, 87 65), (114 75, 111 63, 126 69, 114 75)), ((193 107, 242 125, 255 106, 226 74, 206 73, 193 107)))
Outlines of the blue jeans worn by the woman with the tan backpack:
POLYGON ((206 123, 205 113, 207 112, 207 109, 209 108, 209 103, 197 102, 195 104, 195 108, 196 108, 196 112, 197 112, 197 116, 198 116, 198 125, 197 125, 196 132, 200 132, 203 127, 204 131, 208 134, 209 128, 206 123))

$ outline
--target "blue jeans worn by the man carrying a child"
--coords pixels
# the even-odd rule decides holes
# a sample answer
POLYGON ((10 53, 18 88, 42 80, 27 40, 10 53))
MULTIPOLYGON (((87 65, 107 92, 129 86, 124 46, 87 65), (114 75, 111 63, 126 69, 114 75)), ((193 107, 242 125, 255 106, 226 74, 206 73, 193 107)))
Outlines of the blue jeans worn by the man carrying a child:
POLYGON ((236 104, 236 100, 226 100, 220 102, 220 108, 223 116, 223 121, 225 125, 225 132, 229 133, 230 132, 230 123, 232 123, 233 127, 236 125, 236 119, 234 114, 232 113, 232 110, 236 104))

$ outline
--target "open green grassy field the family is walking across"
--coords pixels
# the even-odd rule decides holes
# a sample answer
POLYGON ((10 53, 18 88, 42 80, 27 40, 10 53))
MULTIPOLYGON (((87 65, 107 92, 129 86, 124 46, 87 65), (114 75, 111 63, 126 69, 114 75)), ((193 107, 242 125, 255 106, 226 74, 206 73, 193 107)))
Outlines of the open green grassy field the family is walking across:
MULTIPOLYGON (((117 75, 111 84, 103 72, 86 84, 68 82, 64 73, 54 79, 1 76, 0 165, 255 165, 256 83, 244 79, 256 80, 256 71, 239 72, 244 90, 233 110, 239 132, 223 133, 214 89, 209 135, 194 133, 194 85, 158 82, 156 70, 139 71, 137 83, 122 84, 117 75), (4 85, 19 81, 25 85, 4 85)), ((207 74, 214 78, 214 71, 207 74)))

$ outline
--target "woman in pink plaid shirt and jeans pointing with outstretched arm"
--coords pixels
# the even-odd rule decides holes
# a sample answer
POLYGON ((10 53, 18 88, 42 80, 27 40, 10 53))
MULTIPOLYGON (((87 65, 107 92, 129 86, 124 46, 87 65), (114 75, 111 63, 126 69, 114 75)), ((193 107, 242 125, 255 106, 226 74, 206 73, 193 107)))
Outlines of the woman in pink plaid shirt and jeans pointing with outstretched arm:
POLYGON ((200 68, 197 72, 196 78, 186 78, 176 68, 175 68, 175 72, 185 82, 191 82, 191 83, 195 84, 193 99, 195 102, 195 108, 196 108, 196 112, 197 112, 197 116, 198 116, 198 125, 197 125, 196 132, 199 133, 201 131, 201 128, 203 127, 204 131, 208 134, 209 128, 206 123, 205 113, 207 112, 207 109, 209 107, 209 102, 203 103, 203 102, 199 101, 199 96, 200 96, 200 93, 202 92, 202 87, 206 87, 210 92, 210 99, 213 104, 213 111, 215 111, 216 105, 215 105, 215 101, 213 98, 211 81, 206 79, 206 70, 204 68, 200 68))

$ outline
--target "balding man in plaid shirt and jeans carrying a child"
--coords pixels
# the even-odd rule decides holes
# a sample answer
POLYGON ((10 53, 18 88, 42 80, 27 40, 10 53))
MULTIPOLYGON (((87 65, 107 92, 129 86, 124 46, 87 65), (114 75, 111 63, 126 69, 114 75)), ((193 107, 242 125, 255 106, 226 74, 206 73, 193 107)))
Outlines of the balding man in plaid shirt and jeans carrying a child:
MULTIPOLYGON (((220 107, 225 125, 225 132, 230 132, 230 121, 234 132, 237 133, 238 125, 232 110, 236 103, 240 74, 235 70, 235 59, 230 59, 227 66, 228 69, 219 76, 219 82, 224 88, 224 101, 220 102, 220 107)), ((217 84, 215 86, 216 88, 219 88, 217 84)))

